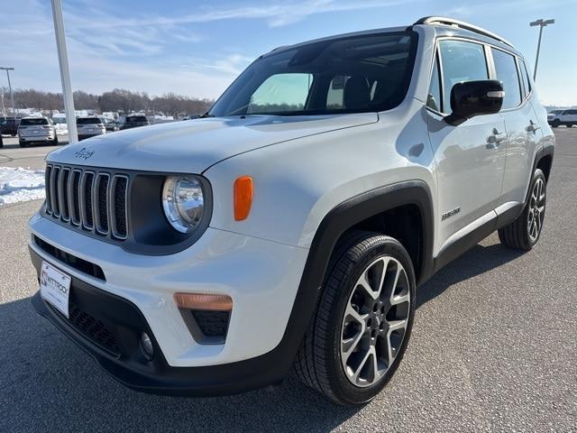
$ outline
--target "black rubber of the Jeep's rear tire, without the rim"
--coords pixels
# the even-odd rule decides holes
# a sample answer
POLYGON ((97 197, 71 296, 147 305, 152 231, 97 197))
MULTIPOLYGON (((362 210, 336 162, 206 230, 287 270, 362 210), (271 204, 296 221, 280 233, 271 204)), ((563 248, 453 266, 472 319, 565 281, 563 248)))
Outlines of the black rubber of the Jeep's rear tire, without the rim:
POLYGON ((536 169, 533 173, 533 179, 529 186, 529 198, 527 203, 523 208, 523 212, 515 221, 513 221, 508 226, 499 228, 499 241, 501 244, 508 246, 509 248, 514 248, 517 250, 531 250, 539 237, 541 236, 541 231, 543 229, 543 221, 545 220, 545 209, 546 209, 546 185, 545 174, 542 170, 536 169), (533 218, 535 218, 535 206, 532 200, 532 192, 535 189, 536 183, 538 181, 543 181, 545 185, 544 198, 543 198, 543 217, 540 219, 540 224, 536 236, 532 236, 529 227, 529 221, 531 218, 531 213, 533 212, 533 218))

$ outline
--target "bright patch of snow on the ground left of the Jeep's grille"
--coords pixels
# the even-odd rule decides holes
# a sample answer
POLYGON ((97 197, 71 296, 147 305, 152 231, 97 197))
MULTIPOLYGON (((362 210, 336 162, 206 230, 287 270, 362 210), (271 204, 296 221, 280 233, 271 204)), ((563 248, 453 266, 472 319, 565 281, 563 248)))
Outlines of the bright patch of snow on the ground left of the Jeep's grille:
POLYGON ((0 167, 0 206, 44 198, 44 170, 0 167))

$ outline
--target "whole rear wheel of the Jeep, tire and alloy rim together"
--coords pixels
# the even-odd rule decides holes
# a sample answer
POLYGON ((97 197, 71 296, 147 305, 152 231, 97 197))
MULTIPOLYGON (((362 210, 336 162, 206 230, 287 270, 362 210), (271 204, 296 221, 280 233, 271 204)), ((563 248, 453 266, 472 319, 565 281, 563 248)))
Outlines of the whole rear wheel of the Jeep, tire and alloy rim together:
POLYGON ((535 246, 545 221, 546 186, 545 174, 542 170, 536 169, 529 187, 529 199, 523 212, 511 224, 499 228, 501 244, 526 251, 535 246))

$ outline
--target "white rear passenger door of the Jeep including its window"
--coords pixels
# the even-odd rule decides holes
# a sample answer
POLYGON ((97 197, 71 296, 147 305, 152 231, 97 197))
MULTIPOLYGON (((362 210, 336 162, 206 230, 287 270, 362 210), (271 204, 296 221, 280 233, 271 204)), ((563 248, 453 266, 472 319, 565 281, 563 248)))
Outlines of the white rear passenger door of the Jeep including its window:
POLYGON ((500 114, 507 128, 507 158, 501 205, 510 207, 525 201, 528 183, 533 170, 537 146, 543 132, 530 104, 532 91, 525 65, 507 51, 490 49, 495 78, 505 90, 500 114))

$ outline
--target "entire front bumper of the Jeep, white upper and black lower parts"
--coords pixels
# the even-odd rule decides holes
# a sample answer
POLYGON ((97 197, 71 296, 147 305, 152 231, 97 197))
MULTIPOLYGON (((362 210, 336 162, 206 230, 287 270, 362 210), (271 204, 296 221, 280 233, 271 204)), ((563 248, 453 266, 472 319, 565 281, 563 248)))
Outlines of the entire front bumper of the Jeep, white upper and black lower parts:
POLYGON ((297 290, 308 250, 209 227, 183 252, 146 256, 73 232, 40 214, 31 218, 30 226, 32 235, 94 263, 104 272, 105 278, 95 278, 47 253, 33 238, 29 244, 37 269, 45 260, 72 277, 72 292, 78 286, 90 299, 95 293, 108 299, 87 302, 91 316, 103 316, 101 321, 112 323, 113 330, 114 319, 123 323, 123 329, 132 329, 126 331, 127 336, 118 331, 122 336, 116 340, 121 345, 114 354, 71 329, 66 318, 41 299, 34 301, 43 316, 65 328, 65 334, 128 386, 151 392, 211 395, 279 382, 289 371, 301 331, 307 326, 294 326, 293 322, 299 320, 297 290), (175 292, 220 293, 233 299, 224 344, 203 345, 193 338, 174 303, 175 292), (109 317, 107 309, 93 311, 90 307, 114 302, 135 312, 119 314, 114 311, 121 309, 111 309, 114 315, 109 317), (124 323, 124 317, 133 317, 133 325, 124 323), (158 349, 155 353, 160 354, 152 363, 142 364, 134 343, 142 330, 152 336, 158 349), (124 338, 129 340, 126 347, 124 338))

